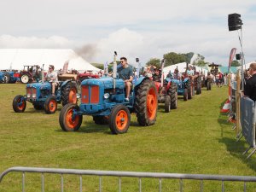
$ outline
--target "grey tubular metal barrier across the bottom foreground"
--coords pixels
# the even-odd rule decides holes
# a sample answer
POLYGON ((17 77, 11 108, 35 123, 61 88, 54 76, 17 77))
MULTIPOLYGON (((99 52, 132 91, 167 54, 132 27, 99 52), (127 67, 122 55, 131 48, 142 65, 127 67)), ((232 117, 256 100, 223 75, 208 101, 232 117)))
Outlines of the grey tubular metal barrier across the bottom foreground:
POLYGON ((221 189, 224 192, 224 182, 243 182, 243 191, 247 191, 247 183, 256 182, 256 177, 248 176, 225 176, 225 175, 203 175, 203 174, 180 174, 180 173, 157 173, 157 172, 112 172, 112 171, 95 171, 95 170, 76 170, 76 169, 55 169, 55 168, 38 168, 38 167, 11 167, 0 175, 0 184, 3 177, 9 172, 22 172, 22 192, 25 192, 25 176, 27 172, 41 173, 41 189, 44 192, 44 173, 60 174, 61 175, 61 192, 64 191, 64 177, 63 174, 72 174, 79 176, 79 191, 82 192, 82 176, 98 176, 99 177, 99 191, 102 192, 102 176, 119 177, 119 192, 121 192, 122 177, 137 177, 139 183, 139 191, 142 190, 142 178, 151 177, 159 179, 159 191, 162 191, 162 179, 172 178, 179 179, 179 191, 183 191, 183 180, 199 180, 200 191, 204 191, 204 181, 221 181, 221 189))

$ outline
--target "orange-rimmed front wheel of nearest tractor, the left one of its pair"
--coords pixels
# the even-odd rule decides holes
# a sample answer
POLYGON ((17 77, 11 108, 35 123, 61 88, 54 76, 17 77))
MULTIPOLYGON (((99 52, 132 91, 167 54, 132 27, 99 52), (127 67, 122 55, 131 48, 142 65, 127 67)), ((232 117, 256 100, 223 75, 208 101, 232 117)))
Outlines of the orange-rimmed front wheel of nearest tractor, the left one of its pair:
POLYGON ((61 109, 59 123, 63 131, 79 130, 83 121, 83 115, 80 115, 78 111, 79 106, 73 103, 67 103, 67 105, 61 109))

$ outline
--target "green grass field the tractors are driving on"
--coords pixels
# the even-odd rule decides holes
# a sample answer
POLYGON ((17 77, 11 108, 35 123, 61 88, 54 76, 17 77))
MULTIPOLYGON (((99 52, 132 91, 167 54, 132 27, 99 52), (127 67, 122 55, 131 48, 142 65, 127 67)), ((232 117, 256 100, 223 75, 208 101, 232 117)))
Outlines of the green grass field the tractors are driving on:
MULTIPOLYGON (((156 124, 141 127, 135 114, 126 134, 112 135, 108 125, 95 125, 84 117, 79 131, 64 132, 55 114, 35 111, 14 113, 12 100, 25 93, 24 84, 0 84, 0 172, 12 166, 36 166, 131 172, 172 172, 254 176, 256 159, 246 160, 247 143, 219 113, 227 88, 213 86, 191 101, 178 99, 178 108, 164 113, 160 106, 156 124)), ((97 191, 97 177, 83 177, 84 191, 97 191)), ((118 178, 103 177, 103 191, 117 191, 118 178), (108 183, 108 184, 107 184, 108 183)), ((0 191, 21 191, 21 174, 11 173, 0 191)), ((79 178, 65 177, 65 191, 79 191, 79 178)), ((221 183, 206 182, 205 191, 220 191, 221 183)), ((163 180, 163 191, 177 191, 177 180, 163 180)), ((135 178, 125 178, 122 191, 137 191, 135 178)), ((243 183, 227 183, 226 191, 242 191, 243 183)), ((143 191, 157 191, 158 180, 144 179, 143 191)), ((198 181, 185 181, 183 191, 199 191, 198 181)), ((40 175, 26 175, 26 191, 40 191, 40 175)), ((59 176, 45 176, 45 191, 60 191, 59 176)), ((253 183, 247 191, 256 191, 253 183)))

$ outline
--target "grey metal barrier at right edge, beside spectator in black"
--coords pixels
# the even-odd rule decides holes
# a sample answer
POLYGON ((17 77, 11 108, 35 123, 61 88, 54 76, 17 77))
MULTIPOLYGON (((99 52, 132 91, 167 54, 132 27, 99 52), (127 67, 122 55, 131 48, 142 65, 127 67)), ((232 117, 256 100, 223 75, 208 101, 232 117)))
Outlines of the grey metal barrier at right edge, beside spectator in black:
POLYGON ((249 158, 256 151, 255 145, 255 115, 256 108, 255 102, 248 97, 241 97, 241 132, 242 136, 245 137, 247 143, 249 144, 249 148, 243 153, 247 154, 250 148, 253 148, 251 154, 247 156, 249 158))

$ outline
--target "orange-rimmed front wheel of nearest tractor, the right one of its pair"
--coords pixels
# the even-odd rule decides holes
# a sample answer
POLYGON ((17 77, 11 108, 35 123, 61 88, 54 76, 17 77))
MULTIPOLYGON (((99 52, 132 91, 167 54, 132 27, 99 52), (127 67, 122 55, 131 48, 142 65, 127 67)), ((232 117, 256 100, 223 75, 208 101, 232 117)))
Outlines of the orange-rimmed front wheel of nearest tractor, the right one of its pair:
POLYGON ((116 105, 109 116, 109 128, 113 134, 128 131, 131 122, 130 111, 125 105, 116 105))

